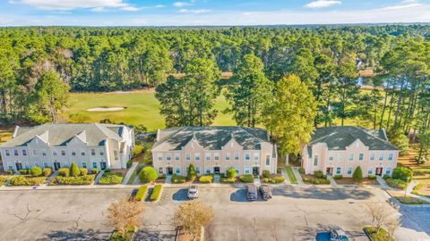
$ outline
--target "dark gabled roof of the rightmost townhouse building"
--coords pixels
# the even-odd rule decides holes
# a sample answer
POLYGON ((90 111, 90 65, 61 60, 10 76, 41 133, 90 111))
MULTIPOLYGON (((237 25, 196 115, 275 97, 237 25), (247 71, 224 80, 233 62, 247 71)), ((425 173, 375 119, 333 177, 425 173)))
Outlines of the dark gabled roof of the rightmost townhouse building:
POLYGON ((359 139, 369 150, 399 150, 392 145, 384 129, 365 129, 360 127, 324 127, 315 129, 310 145, 325 143, 329 150, 345 150, 359 139))

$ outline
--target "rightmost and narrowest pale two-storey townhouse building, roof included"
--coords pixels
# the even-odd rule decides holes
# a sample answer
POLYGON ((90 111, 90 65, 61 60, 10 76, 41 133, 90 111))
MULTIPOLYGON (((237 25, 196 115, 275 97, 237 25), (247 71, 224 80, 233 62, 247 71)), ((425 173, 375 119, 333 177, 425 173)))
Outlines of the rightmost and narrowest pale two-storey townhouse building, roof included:
POLYGON ((352 177, 360 166, 363 176, 389 175, 397 166, 399 148, 392 145, 384 129, 359 127, 317 128, 311 142, 301 152, 305 173, 352 177))

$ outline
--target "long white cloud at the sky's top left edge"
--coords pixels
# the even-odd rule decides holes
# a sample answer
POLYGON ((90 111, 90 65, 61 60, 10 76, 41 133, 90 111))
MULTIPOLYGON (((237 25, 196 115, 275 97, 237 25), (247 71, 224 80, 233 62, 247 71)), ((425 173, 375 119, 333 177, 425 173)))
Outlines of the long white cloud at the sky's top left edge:
POLYGON ((130 4, 125 3, 124 0, 20 0, 20 2, 39 9, 56 11, 69 11, 73 9, 98 11, 101 8, 120 8, 130 11, 130 9, 134 8, 130 4))

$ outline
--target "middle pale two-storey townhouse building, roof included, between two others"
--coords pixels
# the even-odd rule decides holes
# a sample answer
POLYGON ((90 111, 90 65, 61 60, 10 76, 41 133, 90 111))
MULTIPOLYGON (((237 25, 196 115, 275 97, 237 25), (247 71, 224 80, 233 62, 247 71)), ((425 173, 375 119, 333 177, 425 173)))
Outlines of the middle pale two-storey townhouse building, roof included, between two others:
POLYGON ((245 127, 185 127, 159 129, 152 147, 159 174, 185 176, 193 163, 197 174, 220 174, 235 168, 238 175, 276 173, 276 145, 264 129, 245 127))

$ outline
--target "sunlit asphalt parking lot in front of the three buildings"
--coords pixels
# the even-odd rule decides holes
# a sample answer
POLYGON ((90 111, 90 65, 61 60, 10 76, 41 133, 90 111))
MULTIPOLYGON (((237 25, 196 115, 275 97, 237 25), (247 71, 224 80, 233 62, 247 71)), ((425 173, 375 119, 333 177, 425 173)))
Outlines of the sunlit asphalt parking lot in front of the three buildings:
MULTIPOLYGON (((0 191, 0 240, 107 240, 112 231, 105 216, 107 206, 131 190, 0 191)), ((367 240, 361 231, 370 221, 366 204, 387 198, 374 187, 287 187, 272 190, 270 201, 255 202, 246 201, 244 189, 201 188, 200 192, 199 199, 216 213, 205 240, 216 241, 314 240, 317 232, 331 226, 346 230, 352 240, 367 240)), ((135 240, 173 240, 171 218, 184 202, 189 202, 185 188, 164 188, 158 203, 145 203, 135 240)), ((428 240, 430 227, 419 224, 428 224, 428 212, 422 212, 427 216, 401 212, 405 221, 398 240, 428 240), (415 236, 417 232, 421 236, 415 236)))

